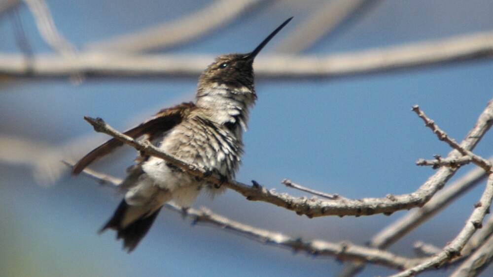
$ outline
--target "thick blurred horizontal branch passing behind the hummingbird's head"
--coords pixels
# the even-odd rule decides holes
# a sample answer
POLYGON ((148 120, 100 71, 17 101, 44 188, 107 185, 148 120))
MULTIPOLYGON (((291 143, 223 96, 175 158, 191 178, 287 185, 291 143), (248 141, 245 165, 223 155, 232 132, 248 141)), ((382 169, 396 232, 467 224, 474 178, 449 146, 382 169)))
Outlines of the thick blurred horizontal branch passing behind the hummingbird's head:
MULTIPOLYGON (((57 77, 82 72, 94 75, 172 75, 195 78, 213 60, 211 56, 136 56, 93 52, 79 53, 77 57, 74 62, 58 55, 38 54, 34 57, 32 71, 29 71, 21 55, 3 53, 0 54, 0 73, 57 77)), ((492 57, 493 32, 482 32, 325 57, 264 57, 255 61, 255 72, 267 77, 340 77, 492 57)))

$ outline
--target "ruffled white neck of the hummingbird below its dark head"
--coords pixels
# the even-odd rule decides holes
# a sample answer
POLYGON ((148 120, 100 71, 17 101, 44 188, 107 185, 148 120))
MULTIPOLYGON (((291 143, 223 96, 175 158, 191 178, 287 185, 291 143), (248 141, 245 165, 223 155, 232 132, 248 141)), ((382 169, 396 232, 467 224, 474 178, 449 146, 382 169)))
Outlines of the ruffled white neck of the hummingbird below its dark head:
POLYGON ((255 99, 255 92, 246 87, 214 83, 199 88, 195 105, 214 123, 241 125, 246 130, 249 108, 255 99))

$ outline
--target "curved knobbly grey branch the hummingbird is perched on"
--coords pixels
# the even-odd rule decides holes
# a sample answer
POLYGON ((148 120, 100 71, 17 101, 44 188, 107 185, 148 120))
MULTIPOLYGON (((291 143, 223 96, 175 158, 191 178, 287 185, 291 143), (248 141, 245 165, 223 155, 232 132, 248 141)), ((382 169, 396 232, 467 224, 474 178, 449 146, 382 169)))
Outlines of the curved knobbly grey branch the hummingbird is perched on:
MULTIPOLYGON (((186 164, 175 157, 160 151, 149 142, 141 143, 132 138, 114 130, 101 119, 91 119, 85 117, 86 121, 91 123, 95 130, 104 132, 125 144, 131 145, 139 151, 162 158, 187 172, 199 176, 213 184, 224 185, 231 188, 248 200, 264 201, 276 206, 295 211, 298 215, 307 215, 308 217, 326 216, 326 215, 374 215, 379 213, 390 214, 398 210, 411 209, 423 206, 445 183, 454 175, 456 169, 441 168, 432 177, 428 179, 418 190, 410 194, 387 195, 383 198, 362 198, 356 200, 336 199, 320 200, 317 198, 307 199, 306 197, 296 198, 287 193, 278 193, 274 190, 267 190, 256 182, 253 186, 241 184, 235 181, 229 181, 222 184, 221 176, 212 175, 205 169, 196 168, 193 165, 186 164)), ((476 126, 469 132, 469 135, 460 145, 463 149, 474 148, 481 137, 493 124, 493 101, 490 101, 486 110, 478 119, 476 126)), ((449 156, 458 155, 456 150, 452 151, 449 156)))

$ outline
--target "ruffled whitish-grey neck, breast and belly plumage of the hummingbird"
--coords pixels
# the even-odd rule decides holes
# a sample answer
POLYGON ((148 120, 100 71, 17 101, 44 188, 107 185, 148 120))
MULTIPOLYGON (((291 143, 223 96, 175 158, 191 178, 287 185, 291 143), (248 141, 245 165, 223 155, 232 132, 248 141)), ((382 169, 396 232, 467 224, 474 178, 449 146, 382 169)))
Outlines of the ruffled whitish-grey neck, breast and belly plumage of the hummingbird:
MULTIPOLYGON (((242 133, 246 128, 248 108, 255 99, 254 92, 245 87, 231 90, 218 84, 211 84, 210 89, 204 92, 197 99, 197 109, 170 130, 159 147, 189 164, 233 179, 243 154, 242 133)), ((203 187, 212 195, 223 190, 170 167, 156 157, 145 161, 142 169, 145 174, 140 182, 152 180, 155 185, 169 191, 171 199, 184 207, 195 202, 203 187)), ((132 190, 126 195, 127 202, 139 197, 132 190)))

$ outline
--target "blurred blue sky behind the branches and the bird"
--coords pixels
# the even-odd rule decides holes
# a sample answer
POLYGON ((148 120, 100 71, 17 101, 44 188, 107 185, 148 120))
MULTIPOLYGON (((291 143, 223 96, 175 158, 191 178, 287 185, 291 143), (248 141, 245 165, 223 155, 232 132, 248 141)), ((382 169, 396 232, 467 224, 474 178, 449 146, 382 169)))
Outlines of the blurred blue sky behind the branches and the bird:
MULTIPOLYGON (((209 1, 60 1, 48 0, 57 28, 78 47, 109 35, 170 21, 209 1)), ((314 11, 295 1, 265 4, 232 25, 169 54, 219 55, 249 52, 284 19, 295 16, 257 59, 269 55, 276 40, 288 35, 314 11)), ((439 39, 493 29, 491 1, 383 1, 372 11, 323 37, 304 54, 326 55, 394 44, 439 39)), ((19 10, 35 53, 49 52, 25 6, 19 10)), ((18 52, 8 16, 0 18, 0 51, 18 52)), ((246 154, 237 180, 256 180, 286 189, 284 178, 346 197, 381 197, 414 191, 431 174, 418 158, 446 155, 439 142, 410 111, 424 112, 461 140, 492 97, 493 62, 472 61, 336 79, 267 79, 258 76, 258 101, 244 136, 246 154)), ((198 77, 198 76, 197 76, 198 77)), ((88 78, 73 85, 65 78, 13 79, 0 83, 0 134, 48 145, 65 145, 94 135, 84 115, 101 117, 125 129, 180 101, 192 100, 196 78, 88 78)), ((487 135, 477 154, 492 154, 487 135)), ((90 149, 85 149, 90 150, 90 149)), ((81 150, 82 152, 84 149, 81 150)), ((135 155, 130 149, 98 164, 98 170, 124 176, 135 155)), ((461 169, 461 176, 471 166, 461 169)), ((471 190, 439 217, 391 247, 412 255, 417 240, 443 246, 472 212, 482 186, 471 190)), ((0 163, 1 276, 294 276, 332 275, 341 268, 333 258, 292 254, 204 226, 190 226, 164 211, 131 255, 114 234, 97 230, 120 198, 110 189, 68 170, 51 187, 36 184, 28 166, 0 163)), ((232 219, 291 236, 363 244, 404 212, 392 216, 308 219, 266 203, 246 201, 228 191, 206 206, 232 219)), ((363 275, 393 271, 369 267, 363 275)), ((446 276, 447 271, 424 276, 446 276)))

